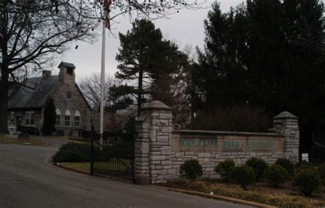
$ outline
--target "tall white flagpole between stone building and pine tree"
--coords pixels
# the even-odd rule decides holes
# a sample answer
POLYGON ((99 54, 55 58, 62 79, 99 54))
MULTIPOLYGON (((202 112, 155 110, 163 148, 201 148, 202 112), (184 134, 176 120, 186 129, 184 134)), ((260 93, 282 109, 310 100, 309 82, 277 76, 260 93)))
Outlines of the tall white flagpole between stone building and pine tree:
POLYGON ((101 99, 100 99, 100 143, 103 144, 104 132, 104 82, 105 82, 105 42, 106 42, 106 10, 104 8, 103 34, 101 41, 101 99))

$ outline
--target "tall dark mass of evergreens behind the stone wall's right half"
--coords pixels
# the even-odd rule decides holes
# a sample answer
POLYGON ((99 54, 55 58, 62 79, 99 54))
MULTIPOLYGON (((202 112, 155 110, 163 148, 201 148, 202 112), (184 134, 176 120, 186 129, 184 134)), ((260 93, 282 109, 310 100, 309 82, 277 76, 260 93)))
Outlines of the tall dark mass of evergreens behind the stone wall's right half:
POLYGON ((226 13, 215 3, 192 71, 195 111, 233 104, 262 106, 269 116, 291 111, 308 151, 325 119, 323 12, 320 0, 247 0, 226 13))

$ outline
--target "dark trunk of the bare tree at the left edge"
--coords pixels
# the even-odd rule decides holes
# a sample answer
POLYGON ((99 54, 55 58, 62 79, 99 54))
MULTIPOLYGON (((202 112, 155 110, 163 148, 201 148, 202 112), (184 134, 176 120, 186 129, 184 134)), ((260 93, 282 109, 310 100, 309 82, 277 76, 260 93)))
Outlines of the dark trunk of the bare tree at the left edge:
POLYGON ((8 66, 1 66, 0 81, 0 132, 8 133, 8 66))

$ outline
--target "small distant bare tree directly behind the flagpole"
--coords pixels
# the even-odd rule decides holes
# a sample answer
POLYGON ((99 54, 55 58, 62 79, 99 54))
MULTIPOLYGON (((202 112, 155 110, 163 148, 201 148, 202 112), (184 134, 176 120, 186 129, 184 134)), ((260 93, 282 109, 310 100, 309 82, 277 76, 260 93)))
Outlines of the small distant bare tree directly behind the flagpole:
MULTIPOLYGON (((104 107, 110 106, 110 87, 117 84, 112 76, 106 76, 104 82, 104 107)), ((101 77, 100 73, 92 73, 91 76, 83 78, 79 82, 80 90, 84 94, 88 104, 91 105, 94 111, 100 110, 101 98, 101 77)))

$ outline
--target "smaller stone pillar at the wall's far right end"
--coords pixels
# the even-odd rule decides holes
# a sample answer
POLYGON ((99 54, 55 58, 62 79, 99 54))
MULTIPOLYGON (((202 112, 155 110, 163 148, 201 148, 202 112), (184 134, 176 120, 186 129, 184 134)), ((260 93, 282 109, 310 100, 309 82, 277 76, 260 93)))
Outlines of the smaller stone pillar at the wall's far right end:
POLYGON ((283 156, 294 163, 299 161, 299 126, 298 117, 285 111, 273 118, 274 130, 285 135, 283 156))

